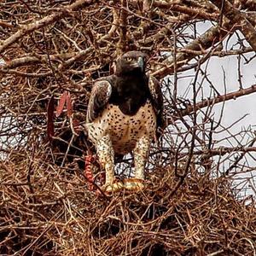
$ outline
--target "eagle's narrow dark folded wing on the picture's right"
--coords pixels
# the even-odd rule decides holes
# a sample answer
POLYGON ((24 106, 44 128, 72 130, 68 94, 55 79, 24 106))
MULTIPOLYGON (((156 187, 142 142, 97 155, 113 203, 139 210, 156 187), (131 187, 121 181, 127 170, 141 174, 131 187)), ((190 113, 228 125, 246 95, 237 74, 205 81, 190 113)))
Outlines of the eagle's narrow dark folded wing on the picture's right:
POLYGON ((148 89, 151 95, 154 112, 156 113, 157 126, 164 129, 166 124, 163 117, 163 95, 159 81, 155 79, 153 76, 149 76, 148 78, 148 89))

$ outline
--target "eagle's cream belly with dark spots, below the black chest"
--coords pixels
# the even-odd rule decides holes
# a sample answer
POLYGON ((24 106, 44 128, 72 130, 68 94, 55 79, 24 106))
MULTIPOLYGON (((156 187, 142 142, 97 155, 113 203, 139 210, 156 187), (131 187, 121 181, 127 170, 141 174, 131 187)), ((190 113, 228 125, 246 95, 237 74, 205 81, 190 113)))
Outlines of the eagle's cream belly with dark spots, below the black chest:
POLYGON ((86 126, 92 143, 96 144, 108 134, 113 150, 127 154, 140 137, 146 135, 150 139, 154 138, 156 116, 149 100, 132 116, 122 113, 118 106, 108 104, 102 114, 86 126))

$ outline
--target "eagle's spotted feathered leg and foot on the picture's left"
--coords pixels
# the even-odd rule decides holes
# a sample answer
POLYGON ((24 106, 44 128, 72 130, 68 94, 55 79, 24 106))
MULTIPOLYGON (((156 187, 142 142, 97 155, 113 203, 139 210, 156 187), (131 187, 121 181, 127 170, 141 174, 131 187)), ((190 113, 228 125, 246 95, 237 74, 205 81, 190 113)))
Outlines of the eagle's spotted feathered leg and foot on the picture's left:
POLYGON ((120 183, 114 183, 114 151, 108 135, 102 137, 97 143, 97 155, 106 172, 106 182, 102 190, 108 193, 121 189, 120 183))

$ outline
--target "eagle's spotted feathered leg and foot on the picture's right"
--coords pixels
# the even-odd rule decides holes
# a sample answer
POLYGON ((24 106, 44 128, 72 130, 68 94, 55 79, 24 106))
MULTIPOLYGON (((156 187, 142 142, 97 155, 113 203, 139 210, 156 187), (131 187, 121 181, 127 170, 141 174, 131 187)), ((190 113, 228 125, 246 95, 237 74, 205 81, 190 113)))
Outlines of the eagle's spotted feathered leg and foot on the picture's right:
POLYGON ((135 177, 125 180, 125 189, 142 190, 144 189, 144 168, 147 161, 148 149, 150 146, 149 137, 140 137, 134 148, 135 177))

